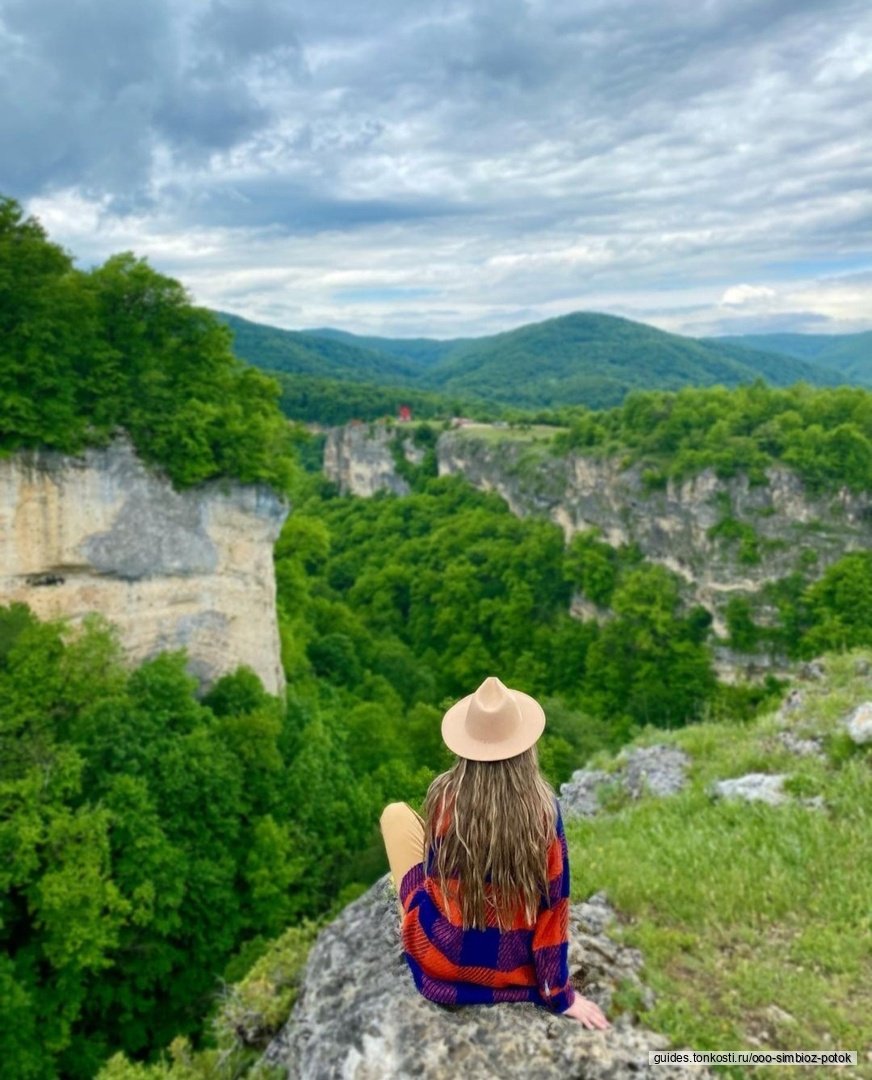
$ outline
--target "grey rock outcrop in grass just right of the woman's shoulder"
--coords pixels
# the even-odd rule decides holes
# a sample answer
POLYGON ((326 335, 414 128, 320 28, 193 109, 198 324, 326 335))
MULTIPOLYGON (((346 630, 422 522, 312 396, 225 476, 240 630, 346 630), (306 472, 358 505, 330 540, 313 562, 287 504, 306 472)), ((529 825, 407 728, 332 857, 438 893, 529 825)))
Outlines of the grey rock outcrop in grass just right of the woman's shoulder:
POLYGON ((643 795, 674 795, 686 783, 687 754, 678 746, 657 743, 653 746, 626 747, 615 759, 615 772, 601 769, 576 769, 560 787, 560 800, 567 818, 590 818, 600 810, 601 784, 618 783, 633 799, 643 795))

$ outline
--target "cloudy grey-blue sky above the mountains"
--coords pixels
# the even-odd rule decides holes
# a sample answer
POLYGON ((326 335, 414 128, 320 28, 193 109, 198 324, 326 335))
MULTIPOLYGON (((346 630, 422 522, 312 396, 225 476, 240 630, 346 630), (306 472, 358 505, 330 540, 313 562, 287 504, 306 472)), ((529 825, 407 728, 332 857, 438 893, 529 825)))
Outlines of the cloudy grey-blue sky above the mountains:
POLYGON ((0 0, 0 148, 280 326, 872 327, 869 0, 0 0))

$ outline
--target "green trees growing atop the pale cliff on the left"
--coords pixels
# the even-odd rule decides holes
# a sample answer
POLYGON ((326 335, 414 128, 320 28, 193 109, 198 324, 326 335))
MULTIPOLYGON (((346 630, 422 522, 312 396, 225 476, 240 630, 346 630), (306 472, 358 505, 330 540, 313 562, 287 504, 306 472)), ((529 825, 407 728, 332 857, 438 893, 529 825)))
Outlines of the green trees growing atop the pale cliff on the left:
POLYGON ((131 252, 90 271, 0 197, 0 455, 67 454, 125 429, 176 487, 215 476, 291 483, 274 379, 232 334, 131 252))

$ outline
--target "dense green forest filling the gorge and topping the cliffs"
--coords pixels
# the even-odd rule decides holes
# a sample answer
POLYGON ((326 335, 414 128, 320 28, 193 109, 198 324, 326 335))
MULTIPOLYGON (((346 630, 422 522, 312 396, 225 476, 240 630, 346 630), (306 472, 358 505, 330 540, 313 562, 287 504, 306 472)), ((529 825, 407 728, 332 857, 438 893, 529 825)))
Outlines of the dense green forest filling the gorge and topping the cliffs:
MULTIPOLYGON (((778 693, 773 678, 716 680, 710 613, 632 544, 595 529, 567 544, 427 469, 407 497, 340 496, 316 437, 282 416, 278 382, 238 361, 229 330, 178 283, 131 254, 75 270, 11 200, 0 222, 3 454, 76 450, 123 427, 175 483, 266 482, 293 503, 274 550, 282 699, 245 667, 202 694, 184 650, 130 666, 96 615, 73 630, 0 607, 9 1075, 84 1080, 117 1051, 147 1062, 177 1036, 210 1045, 228 982, 384 873, 381 807, 420 805, 450 764, 444 708, 488 674, 545 704, 555 785, 648 726, 740 726, 778 693), (572 618, 576 593, 609 617, 572 618)), ((779 432, 818 422, 821 446, 848 426, 839 445, 853 448, 823 455, 822 482, 868 468, 868 393, 778 391, 790 408, 775 413, 760 387, 681 393, 581 411, 562 437, 748 468, 760 460, 747 441, 767 424, 772 453, 779 432), (778 419, 791 411, 797 423, 778 419)), ((776 625, 734 606, 727 644, 797 659, 872 644, 872 553, 813 571, 774 583, 776 625)))

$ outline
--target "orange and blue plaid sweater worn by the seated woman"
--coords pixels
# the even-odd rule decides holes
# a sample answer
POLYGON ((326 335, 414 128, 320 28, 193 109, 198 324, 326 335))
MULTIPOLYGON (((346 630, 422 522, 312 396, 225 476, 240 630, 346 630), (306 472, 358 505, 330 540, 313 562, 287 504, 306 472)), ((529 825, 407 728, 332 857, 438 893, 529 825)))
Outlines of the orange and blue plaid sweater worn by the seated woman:
MULTIPOLYGON (((416 987, 430 1001, 532 1001, 553 1012, 565 1012, 573 1003, 575 990, 568 970, 569 859, 560 802, 555 802, 556 831, 548 849, 548 902, 542 895, 534 923, 524 919, 519 904, 511 926, 500 930, 488 906, 485 929, 465 930, 457 899, 459 882, 456 877, 452 879, 448 895, 443 896, 430 874, 432 848, 427 868, 416 863, 403 877, 403 954, 416 987)), ((489 890, 489 882, 485 888, 489 890)))

